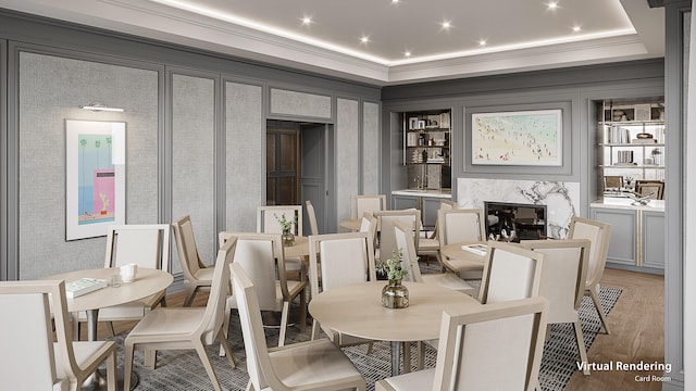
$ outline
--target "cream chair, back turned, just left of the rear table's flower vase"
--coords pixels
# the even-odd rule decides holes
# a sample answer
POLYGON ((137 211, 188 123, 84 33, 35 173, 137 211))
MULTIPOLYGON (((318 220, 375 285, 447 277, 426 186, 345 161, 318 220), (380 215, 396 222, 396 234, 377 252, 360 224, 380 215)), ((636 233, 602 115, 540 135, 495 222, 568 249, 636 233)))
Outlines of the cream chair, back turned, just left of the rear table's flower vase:
MULTIPOLYGON (((237 238, 237 250, 233 262, 241 265, 247 276, 253 281, 259 294, 261 311, 281 313, 281 335, 278 346, 285 344, 285 335, 290 317, 290 303, 299 298, 299 326, 304 330, 307 323, 306 281, 288 280, 283 256, 281 234, 251 232, 220 232, 220 243, 224 244, 229 238, 237 238), (277 269, 277 277, 276 277, 277 269)), ((237 300, 229 295, 225 304, 224 333, 227 337, 232 310, 237 307, 237 300)))

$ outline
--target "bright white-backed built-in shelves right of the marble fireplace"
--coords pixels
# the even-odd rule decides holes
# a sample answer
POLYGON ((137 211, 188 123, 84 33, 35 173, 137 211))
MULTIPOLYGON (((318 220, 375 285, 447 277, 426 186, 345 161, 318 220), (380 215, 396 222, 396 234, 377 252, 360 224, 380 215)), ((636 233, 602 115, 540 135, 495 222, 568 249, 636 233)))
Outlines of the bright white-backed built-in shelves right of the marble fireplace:
POLYGON ((598 172, 634 180, 664 180, 664 104, 601 102, 598 172))

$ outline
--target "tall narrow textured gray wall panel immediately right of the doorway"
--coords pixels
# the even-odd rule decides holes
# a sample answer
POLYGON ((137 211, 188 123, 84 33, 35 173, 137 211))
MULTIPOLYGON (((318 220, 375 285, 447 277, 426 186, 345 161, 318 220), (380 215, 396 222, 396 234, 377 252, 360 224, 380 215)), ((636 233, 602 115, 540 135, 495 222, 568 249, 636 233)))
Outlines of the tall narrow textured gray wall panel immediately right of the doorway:
POLYGON ((339 223, 350 217, 350 195, 360 191, 360 121, 356 100, 339 98, 336 110, 336 207, 339 223))

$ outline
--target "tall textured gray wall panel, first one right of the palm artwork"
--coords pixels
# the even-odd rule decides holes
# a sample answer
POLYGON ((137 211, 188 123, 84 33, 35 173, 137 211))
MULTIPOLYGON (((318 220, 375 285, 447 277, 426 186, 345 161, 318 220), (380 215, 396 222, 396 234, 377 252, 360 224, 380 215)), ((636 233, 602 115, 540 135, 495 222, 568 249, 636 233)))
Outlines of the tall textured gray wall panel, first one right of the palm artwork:
MULTIPOLYGON (((215 236, 215 80, 172 75, 172 217, 191 216, 201 261, 212 264, 215 236)), ((172 270, 181 272, 177 254, 172 270)))

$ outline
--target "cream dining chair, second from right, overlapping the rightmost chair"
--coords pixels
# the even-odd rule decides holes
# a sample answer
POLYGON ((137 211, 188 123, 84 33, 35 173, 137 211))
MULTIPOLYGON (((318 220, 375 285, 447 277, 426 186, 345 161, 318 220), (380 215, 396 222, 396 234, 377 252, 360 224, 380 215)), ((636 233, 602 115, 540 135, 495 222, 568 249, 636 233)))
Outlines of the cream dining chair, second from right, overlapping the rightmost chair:
MULTIPOLYGON (((540 295, 549 301, 548 324, 571 323, 581 363, 587 363, 587 350, 580 324, 580 304, 585 293, 585 275, 591 243, 585 239, 523 240, 525 249, 545 255, 545 277, 540 295)), ((583 373, 589 375, 588 366, 583 373)))

